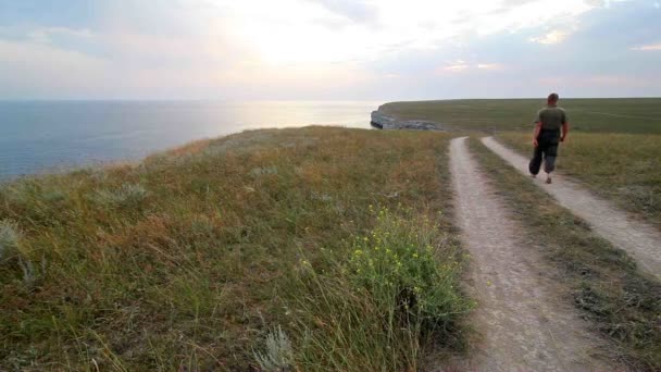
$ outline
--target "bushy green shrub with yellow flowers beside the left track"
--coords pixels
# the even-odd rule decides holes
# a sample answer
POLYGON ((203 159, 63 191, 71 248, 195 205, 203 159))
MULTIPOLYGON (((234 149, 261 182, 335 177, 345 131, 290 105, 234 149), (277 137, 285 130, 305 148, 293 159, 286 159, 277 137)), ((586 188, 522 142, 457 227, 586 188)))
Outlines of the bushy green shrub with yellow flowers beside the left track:
POLYGON ((426 216, 410 221, 381 210, 377 226, 354 240, 349 260, 352 282, 400 320, 420 323, 422 332, 446 326, 461 303, 454 286, 459 262, 447 255, 448 247, 435 246, 445 240, 439 230, 426 216))

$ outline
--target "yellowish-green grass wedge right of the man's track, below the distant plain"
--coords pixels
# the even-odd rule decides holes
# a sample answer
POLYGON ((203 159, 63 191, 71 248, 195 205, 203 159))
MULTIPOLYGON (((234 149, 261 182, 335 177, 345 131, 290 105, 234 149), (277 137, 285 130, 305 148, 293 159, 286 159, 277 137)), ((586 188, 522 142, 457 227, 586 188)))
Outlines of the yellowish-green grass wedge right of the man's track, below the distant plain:
MULTIPOLYGON (((532 156, 531 134, 497 137, 532 156)), ((558 169, 661 230, 661 135, 573 133, 560 147, 558 169)))

